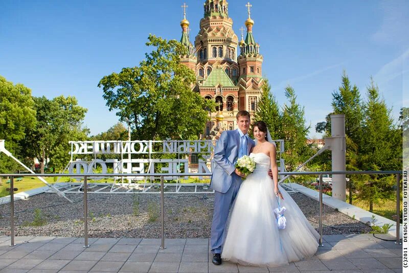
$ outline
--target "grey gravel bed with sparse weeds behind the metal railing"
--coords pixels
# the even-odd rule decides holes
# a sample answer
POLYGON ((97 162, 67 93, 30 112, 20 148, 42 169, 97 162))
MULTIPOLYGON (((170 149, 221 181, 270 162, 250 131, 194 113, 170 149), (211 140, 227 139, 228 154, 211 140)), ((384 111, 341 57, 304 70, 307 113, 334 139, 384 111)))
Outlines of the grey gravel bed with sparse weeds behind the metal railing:
MULTIPOLYGON (((83 195, 66 196, 74 203, 53 193, 16 201, 15 235, 82 237, 83 195), (36 211, 37 214, 40 212, 37 217, 36 211)), ((317 230, 319 203, 301 193, 292 194, 292 198, 317 230)), ((165 193, 166 238, 209 238, 213 201, 213 194, 165 193)), ((9 212, 9 204, 0 206, 0 235, 10 235, 9 212)), ((323 222, 324 235, 367 233, 371 230, 369 226, 327 206, 324 206, 323 222)), ((88 234, 89 237, 161 238, 160 195, 89 194, 88 234)))

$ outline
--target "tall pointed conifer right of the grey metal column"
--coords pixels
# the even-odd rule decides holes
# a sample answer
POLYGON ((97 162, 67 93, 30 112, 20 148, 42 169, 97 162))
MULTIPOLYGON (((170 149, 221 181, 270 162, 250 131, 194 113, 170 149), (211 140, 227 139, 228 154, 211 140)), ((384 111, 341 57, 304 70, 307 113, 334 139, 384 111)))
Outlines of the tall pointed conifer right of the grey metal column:
MULTIPOLYGON (((401 130, 394 125, 384 99, 379 95, 378 86, 371 78, 367 88, 368 101, 365 104, 362 145, 359 167, 362 170, 384 171, 402 168, 401 130)), ((369 202, 369 210, 380 199, 394 197, 395 179, 390 175, 367 175, 357 181, 358 198, 369 202)))

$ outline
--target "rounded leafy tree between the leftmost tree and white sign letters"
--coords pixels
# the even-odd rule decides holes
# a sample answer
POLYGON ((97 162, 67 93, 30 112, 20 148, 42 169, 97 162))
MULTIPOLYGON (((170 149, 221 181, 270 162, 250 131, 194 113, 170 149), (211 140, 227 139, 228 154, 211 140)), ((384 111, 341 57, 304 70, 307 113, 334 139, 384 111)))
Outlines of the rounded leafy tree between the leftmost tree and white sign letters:
POLYGON ((29 157, 36 157, 41 173, 48 158, 49 166, 61 169, 70 160, 69 141, 86 140, 82 121, 87 109, 77 105, 75 97, 59 96, 53 100, 34 97, 37 111, 35 127, 26 130, 22 145, 29 157))

